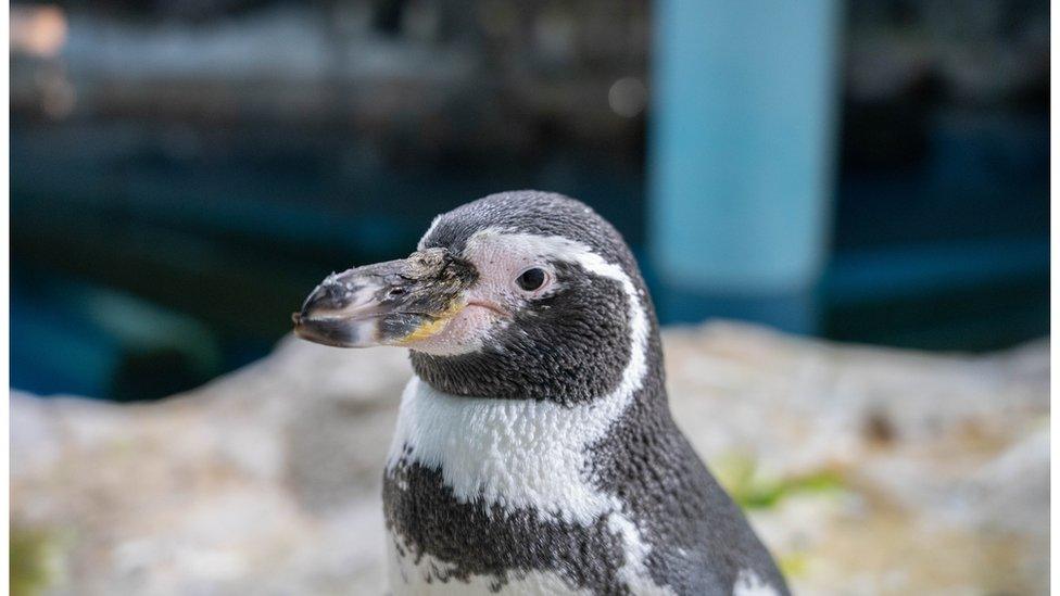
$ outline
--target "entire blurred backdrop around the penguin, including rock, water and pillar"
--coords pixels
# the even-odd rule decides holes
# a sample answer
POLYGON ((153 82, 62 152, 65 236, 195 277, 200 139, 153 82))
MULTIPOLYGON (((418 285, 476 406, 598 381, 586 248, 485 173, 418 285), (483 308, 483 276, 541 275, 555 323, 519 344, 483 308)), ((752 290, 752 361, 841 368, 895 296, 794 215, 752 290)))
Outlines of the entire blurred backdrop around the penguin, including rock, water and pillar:
POLYGON ((407 358, 290 315, 526 188, 626 236, 674 417, 797 594, 1048 592, 1045 0, 10 22, 13 594, 387 593, 407 358))

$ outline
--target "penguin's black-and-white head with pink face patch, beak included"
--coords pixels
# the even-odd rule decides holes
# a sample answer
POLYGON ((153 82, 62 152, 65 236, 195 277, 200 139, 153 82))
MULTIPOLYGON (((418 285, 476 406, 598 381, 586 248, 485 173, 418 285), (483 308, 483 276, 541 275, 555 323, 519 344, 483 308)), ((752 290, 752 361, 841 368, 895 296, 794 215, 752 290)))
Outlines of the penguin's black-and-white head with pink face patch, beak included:
POLYGON ((407 346, 446 393, 591 401, 657 351, 651 299, 615 228, 566 196, 492 194, 438 216, 409 257, 332 274, 295 333, 407 346))

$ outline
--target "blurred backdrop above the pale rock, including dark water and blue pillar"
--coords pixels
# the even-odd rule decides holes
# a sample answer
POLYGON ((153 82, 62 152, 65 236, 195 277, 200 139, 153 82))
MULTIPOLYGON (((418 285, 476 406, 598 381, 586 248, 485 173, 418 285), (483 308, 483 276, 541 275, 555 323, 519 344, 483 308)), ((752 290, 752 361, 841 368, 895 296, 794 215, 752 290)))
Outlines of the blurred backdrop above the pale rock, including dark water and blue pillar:
POLYGON ((1048 3, 736 4, 12 3, 12 385, 190 389, 520 188, 614 221, 664 324, 1045 334, 1048 3))

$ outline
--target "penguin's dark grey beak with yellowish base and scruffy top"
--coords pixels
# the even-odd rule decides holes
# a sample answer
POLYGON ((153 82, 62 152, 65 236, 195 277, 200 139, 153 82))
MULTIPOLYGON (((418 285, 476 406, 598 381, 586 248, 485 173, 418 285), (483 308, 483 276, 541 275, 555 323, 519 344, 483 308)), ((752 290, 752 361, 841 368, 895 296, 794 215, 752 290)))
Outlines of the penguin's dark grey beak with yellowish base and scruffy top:
POLYGON ((476 278, 445 249, 331 274, 291 317, 294 333, 337 347, 408 345, 444 329, 476 278))

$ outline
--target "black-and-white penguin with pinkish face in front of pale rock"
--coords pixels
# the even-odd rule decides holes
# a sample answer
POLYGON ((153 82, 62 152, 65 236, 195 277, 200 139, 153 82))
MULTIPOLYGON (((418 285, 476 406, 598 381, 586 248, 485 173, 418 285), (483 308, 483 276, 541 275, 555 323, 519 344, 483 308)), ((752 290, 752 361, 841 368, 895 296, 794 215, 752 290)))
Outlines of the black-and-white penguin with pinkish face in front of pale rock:
POLYGON ((674 423, 652 299, 585 204, 465 204, 293 319, 409 350, 382 494, 393 594, 788 594, 674 423))

